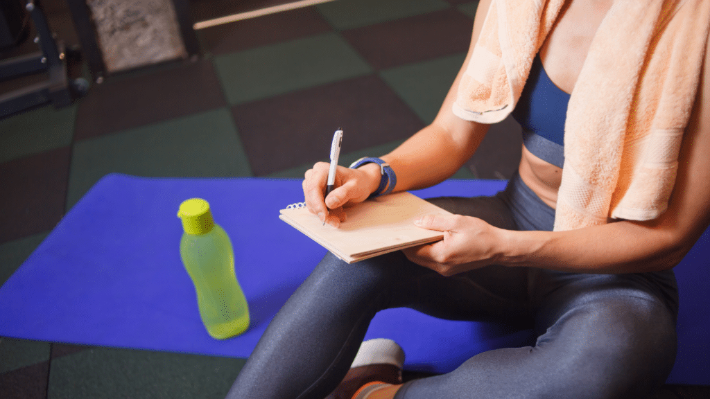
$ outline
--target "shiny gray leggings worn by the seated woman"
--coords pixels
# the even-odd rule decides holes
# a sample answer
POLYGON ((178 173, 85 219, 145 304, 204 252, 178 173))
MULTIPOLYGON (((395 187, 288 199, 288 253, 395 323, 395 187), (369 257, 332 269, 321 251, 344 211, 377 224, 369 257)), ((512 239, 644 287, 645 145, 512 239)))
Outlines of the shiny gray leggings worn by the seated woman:
MULTIPOLYGON (((517 175, 493 197, 431 201, 503 229, 550 230, 554 220, 517 175)), ((537 336, 535 346, 487 351, 451 373, 405 383, 395 398, 646 398, 674 363, 677 301, 672 270, 585 275, 488 266, 447 278, 400 252, 351 265, 328 254, 275 316, 227 398, 325 398, 371 319, 391 307, 532 328, 537 336)))

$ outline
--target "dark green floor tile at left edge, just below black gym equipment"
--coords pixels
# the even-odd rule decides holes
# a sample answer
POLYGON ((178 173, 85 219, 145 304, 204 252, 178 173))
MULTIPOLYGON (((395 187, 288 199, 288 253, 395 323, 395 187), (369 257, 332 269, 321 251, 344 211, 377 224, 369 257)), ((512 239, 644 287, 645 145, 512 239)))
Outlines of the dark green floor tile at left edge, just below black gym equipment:
POLYGON ((0 162, 69 146, 76 106, 43 106, 0 120, 0 162))

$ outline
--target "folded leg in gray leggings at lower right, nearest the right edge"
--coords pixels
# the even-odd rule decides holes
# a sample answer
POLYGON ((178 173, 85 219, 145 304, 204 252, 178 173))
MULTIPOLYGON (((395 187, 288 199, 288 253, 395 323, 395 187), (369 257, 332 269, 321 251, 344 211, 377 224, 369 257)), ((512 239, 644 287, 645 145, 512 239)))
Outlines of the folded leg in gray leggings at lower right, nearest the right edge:
POLYGON ((633 286, 567 293, 533 347, 487 351, 395 398, 646 398, 674 363, 674 316, 633 286))

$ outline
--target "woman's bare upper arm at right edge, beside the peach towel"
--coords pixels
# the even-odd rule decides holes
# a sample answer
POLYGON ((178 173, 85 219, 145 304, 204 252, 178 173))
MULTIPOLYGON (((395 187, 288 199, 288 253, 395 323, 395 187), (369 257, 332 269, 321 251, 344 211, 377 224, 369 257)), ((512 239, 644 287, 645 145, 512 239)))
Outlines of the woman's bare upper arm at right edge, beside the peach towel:
POLYGON ((672 234, 682 255, 710 224, 710 40, 707 46, 668 209, 654 223, 672 234))

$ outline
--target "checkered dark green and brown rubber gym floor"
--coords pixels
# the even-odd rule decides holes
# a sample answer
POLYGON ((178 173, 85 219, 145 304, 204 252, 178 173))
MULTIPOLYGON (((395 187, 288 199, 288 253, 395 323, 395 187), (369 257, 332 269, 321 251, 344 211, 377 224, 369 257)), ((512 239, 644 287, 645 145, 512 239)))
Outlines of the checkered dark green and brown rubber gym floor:
MULTIPOLYGON (((192 0, 191 13, 203 21, 283 1, 192 0)), ((327 160, 339 126, 342 164, 390 151, 436 115, 476 5, 337 0, 205 28, 196 60, 109 76, 71 106, 0 120, 0 284, 108 173, 302 178, 327 160)), ((78 44, 65 0, 43 8, 58 39, 78 44)), ((90 79, 82 62, 70 74, 90 79)), ((506 120, 454 178, 507 178, 519 159, 520 127, 506 120)), ((222 398, 243 364, 0 337, 0 398, 222 398)), ((699 386, 657 395, 709 397, 699 386)))

